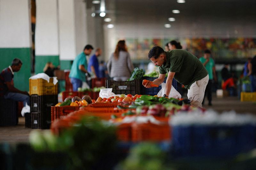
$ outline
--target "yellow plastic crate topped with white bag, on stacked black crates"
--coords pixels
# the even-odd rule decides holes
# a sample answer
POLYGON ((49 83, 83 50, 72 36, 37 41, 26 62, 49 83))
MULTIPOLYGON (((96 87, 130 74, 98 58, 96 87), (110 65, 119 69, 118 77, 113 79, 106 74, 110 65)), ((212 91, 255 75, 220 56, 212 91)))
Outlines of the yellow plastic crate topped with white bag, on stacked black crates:
POLYGON ((58 83, 53 84, 53 78, 50 78, 49 83, 44 79, 29 79, 29 94, 30 95, 58 95, 58 83))

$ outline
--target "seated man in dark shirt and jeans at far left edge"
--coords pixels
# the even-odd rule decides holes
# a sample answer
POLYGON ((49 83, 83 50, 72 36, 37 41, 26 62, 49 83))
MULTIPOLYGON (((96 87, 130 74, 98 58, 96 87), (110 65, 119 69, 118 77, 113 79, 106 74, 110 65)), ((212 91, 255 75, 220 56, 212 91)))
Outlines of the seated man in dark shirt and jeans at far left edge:
POLYGON ((26 91, 16 89, 13 85, 13 72, 18 72, 22 66, 20 59, 14 59, 9 66, 0 73, 0 97, 23 102, 24 106, 30 105, 29 94, 26 91))

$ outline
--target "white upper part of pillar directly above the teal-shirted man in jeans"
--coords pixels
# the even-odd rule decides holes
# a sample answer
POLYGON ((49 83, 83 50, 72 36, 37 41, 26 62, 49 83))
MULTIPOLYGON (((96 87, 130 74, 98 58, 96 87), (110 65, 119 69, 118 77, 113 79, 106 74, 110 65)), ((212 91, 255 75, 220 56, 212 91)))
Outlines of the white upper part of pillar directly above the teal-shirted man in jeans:
POLYGON ((60 60, 76 57, 75 3, 59 0, 60 60))

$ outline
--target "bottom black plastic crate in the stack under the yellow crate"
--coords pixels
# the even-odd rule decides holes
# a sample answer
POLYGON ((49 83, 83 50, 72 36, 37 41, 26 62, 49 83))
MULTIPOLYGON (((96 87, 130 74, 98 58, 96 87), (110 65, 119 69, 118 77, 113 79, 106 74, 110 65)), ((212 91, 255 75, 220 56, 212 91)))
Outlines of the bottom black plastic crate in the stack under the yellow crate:
POLYGON ((50 113, 31 112, 31 128, 50 129, 52 119, 50 113))

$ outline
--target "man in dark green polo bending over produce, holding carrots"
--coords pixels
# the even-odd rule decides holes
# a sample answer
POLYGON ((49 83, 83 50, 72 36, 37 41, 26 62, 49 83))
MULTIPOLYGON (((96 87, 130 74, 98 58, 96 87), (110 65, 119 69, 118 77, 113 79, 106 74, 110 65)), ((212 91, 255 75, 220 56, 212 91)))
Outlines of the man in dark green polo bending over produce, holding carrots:
MULTIPOLYGON (((188 99, 192 106, 202 107, 204 91, 209 80, 209 75, 204 65, 196 56, 188 51, 174 49, 164 52, 163 48, 154 46, 148 53, 148 59, 155 66, 159 66, 159 77, 153 81, 160 85, 164 81, 165 74, 168 73, 166 80, 165 95, 170 94, 173 77, 188 89, 188 99)), ((150 88, 150 82, 144 85, 150 88)))

